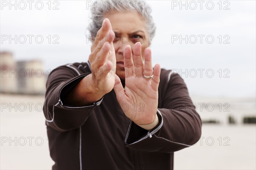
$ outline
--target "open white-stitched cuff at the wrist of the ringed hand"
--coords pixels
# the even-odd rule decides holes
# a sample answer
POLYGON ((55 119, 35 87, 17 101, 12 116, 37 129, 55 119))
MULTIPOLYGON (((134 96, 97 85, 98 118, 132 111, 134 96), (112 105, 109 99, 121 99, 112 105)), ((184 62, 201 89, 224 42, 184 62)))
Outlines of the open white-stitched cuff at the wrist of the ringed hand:
POLYGON ((163 116, 161 112, 157 109, 157 117, 159 122, 157 126, 155 126, 150 131, 143 129, 142 127, 136 125, 133 121, 130 120, 130 124, 125 135, 125 145, 129 146, 132 144, 136 144, 138 142, 142 142, 145 139, 150 139, 152 136, 157 133, 158 130, 163 126, 163 116))

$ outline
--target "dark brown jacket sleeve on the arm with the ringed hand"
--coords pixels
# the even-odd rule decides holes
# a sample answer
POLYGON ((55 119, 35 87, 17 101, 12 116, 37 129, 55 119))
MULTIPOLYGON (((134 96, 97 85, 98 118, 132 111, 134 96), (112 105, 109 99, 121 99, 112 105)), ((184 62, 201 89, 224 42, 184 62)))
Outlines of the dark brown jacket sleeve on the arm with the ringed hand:
POLYGON ((124 141, 127 147, 169 153, 189 147, 200 139, 201 118, 195 111, 186 84, 178 74, 163 72, 157 109, 159 123, 147 131, 130 121, 124 141))

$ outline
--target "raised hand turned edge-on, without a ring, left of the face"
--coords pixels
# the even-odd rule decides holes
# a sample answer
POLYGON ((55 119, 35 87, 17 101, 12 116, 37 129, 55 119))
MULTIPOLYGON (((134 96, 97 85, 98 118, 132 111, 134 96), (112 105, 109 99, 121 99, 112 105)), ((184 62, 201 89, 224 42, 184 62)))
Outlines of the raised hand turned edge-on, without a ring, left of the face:
POLYGON ((93 91, 101 93, 102 96, 109 93, 115 83, 116 54, 113 46, 114 37, 111 23, 108 18, 105 18, 91 46, 89 56, 93 91), (102 74, 104 75, 102 76, 102 74))

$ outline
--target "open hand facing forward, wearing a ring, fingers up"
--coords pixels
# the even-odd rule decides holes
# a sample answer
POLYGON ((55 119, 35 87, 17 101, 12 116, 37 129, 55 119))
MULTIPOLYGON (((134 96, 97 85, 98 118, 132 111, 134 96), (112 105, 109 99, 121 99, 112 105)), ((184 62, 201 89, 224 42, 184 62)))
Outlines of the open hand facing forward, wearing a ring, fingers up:
POLYGON ((116 76, 114 91, 125 115, 137 125, 148 125, 157 117, 158 85, 160 82, 160 64, 152 68, 151 49, 144 52, 145 63, 141 53, 141 43, 134 45, 134 60, 131 46, 124 50, 125 88, 116 76), (143 75, 153 78, 146 79, 143 75))

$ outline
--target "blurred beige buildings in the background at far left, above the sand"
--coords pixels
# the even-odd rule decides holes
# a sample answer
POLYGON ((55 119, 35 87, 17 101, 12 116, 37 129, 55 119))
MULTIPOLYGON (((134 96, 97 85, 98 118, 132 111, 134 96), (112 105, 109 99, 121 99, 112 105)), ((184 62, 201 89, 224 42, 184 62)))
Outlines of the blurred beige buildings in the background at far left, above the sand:
POLYGON ((41 60, 18 61, 10 52, 0 53, 0 92, 15 94, 44 94, 47 74, 41 60))

